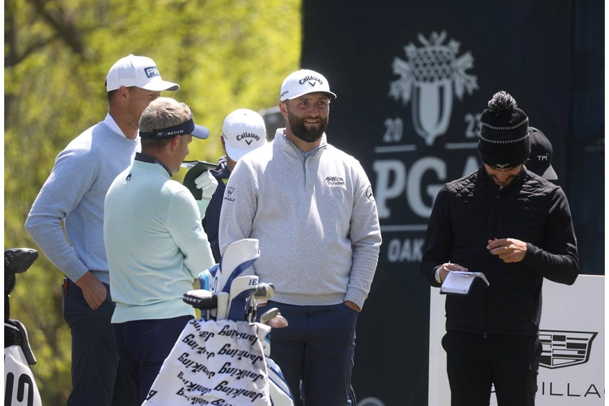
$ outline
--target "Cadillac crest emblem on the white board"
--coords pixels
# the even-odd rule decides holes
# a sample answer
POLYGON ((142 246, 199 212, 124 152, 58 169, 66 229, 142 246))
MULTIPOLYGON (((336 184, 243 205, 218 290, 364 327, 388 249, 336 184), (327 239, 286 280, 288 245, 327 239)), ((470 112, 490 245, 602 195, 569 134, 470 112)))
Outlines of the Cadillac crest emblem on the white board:
POLYGON ((542 341, 539 366, 555 369, 585 364, 590 359, 592 341, 597 334, 599 333, 539 330, 539 340, 542 341))

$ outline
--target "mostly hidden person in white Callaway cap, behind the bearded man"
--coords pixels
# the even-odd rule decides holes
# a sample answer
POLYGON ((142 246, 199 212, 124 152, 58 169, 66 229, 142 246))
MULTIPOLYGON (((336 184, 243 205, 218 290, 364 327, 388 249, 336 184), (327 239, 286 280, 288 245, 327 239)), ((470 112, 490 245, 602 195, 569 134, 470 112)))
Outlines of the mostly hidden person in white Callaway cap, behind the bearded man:
MULTIPOLYGON (((220 226, 220 209, 222 209, 227 181, 241 157, 266 144, 264 119, 255 111, 238 108, 225 118, 220 142, 225 155, 220 156, 216 168, 209 170, 209 173, 218 180, 218 188, 213 192, 205 212, 205 218, 203 218, 203 228, 209 238, 211 251, 216 262, 220 262, 218 227, 220 226)), ((202 189, 203 185, 208 182, 206 174, 207 172, 203 172, 195 179, 197 188, 202 189)))

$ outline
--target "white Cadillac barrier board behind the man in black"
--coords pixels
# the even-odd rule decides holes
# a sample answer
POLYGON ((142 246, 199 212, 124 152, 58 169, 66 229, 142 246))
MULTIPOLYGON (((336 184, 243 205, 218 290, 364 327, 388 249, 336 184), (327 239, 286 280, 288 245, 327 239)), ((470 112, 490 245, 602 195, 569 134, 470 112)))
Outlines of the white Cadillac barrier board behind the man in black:
MULTIPOLYGON (((579 275, 571 286, 544 280, 539 326, 542 357, 537 406, 605 404, 605 277, 579 275)), ((441 346, 445 295, 431 288, 429 405, 450 405, 446 352, 441 346)), ((492 394, 491 406, 497 401, 492 394)))

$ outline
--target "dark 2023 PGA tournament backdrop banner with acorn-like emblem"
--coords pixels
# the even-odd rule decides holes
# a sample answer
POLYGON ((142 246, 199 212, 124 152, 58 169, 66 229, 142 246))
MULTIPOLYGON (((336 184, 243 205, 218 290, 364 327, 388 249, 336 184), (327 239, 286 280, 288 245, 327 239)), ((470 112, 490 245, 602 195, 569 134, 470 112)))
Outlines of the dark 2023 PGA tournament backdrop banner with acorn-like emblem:
POLYGON ((301 66, 338 96, 328 141, 364 165, 381 222, 357 327, 358 405, 426 405, 429 287, 419 269, 435 195, 480 165, 480 113, 498 90, 549 137, 553 166, 565 173, 571 2, 302 3, 301 66))

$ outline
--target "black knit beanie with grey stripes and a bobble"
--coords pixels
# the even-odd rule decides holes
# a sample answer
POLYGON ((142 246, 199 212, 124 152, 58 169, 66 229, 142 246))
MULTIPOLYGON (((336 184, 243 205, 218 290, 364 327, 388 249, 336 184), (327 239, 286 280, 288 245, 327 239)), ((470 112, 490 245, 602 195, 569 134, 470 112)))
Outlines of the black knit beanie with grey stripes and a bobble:
POLYGON ((507 92, 496 92, 480 116, 480 159, 494 168, 514 168, 528 159, 528 117, 507 92))

